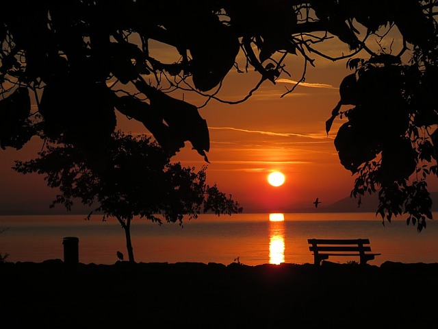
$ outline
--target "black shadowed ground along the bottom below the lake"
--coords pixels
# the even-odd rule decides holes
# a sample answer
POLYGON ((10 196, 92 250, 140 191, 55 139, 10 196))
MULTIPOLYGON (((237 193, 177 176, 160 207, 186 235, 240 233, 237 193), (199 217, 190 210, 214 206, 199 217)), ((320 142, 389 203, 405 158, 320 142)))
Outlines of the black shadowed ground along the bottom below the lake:
POLYGON ((438 264, 0 264, 0 328, 438 328, 438 264))

